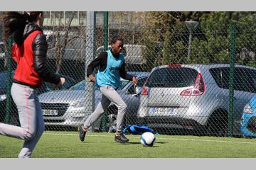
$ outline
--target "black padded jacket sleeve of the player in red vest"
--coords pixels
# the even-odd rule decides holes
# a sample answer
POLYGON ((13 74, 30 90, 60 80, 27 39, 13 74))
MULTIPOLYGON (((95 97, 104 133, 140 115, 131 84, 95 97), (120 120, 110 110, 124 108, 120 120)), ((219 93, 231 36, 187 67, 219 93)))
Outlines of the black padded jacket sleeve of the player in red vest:
POLYGON ((58 74, 50 72, 46 67, 46 52, 46 36, 43 33, 39 33, 33 40, 33 67, 43 81, 48 81, 56 85, 60 84, 61 81, 58 74))

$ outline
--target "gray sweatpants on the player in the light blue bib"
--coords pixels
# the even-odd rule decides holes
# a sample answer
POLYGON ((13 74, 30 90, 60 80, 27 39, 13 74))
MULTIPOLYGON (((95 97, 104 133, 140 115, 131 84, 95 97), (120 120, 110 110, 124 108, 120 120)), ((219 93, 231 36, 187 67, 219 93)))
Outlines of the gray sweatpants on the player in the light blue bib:
POLYGON ((112 86, 100 87, 100 91, 102 92, 102 98, 95 108, 95 111, 85 121, 85 128, 90 128, 90 126, 95 123, 98 118, 100 118, 100 115, 107 111, 107 107, 110 106, 110 103, 113 102, 118 108, 117 130, 122 130, 124 113, 127 108, 126 103, 124 103, 123 99, 119 96, 119 94, 117 94, 117 91, 115 91, 112 86))

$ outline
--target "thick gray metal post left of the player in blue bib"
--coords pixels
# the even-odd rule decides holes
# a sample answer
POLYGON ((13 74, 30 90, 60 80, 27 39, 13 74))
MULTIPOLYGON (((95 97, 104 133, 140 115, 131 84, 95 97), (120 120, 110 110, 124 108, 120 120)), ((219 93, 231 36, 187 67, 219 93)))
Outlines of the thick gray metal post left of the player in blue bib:
POLYGON ((95 88, 92 82, 87 81, 87 67, 95 58, 95 23, 96 12, 87 12, 86 21, 86 40, 85 40, 85 113, 86 116, 92 114, 95 109, 95 88))

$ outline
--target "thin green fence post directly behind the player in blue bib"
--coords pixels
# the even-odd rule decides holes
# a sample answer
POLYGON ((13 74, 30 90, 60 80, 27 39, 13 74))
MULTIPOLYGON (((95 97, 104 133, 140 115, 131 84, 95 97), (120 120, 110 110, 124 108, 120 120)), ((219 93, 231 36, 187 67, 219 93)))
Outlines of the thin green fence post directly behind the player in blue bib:
MULTIPOLYGON (((104 50, 107 50, 108 46, 108 12, 104 12, 104 50)), ((104 113, 102 115, 102 131, 106 132, 107 131, 107 113, 104 113)))

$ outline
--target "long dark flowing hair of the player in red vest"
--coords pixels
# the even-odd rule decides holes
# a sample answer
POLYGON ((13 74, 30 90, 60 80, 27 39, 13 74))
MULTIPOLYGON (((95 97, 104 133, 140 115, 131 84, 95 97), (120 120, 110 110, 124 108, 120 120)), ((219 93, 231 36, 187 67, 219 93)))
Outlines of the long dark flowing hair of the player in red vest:
POLYGON ((36 21, 40 13, 43 14, 42 11, 23 13, 18 13, 16 11, 4 12, 4 39, 9 38, 9 36, 14 33, 14 41, 18 45, 21 45, 26 24, 36 21))

